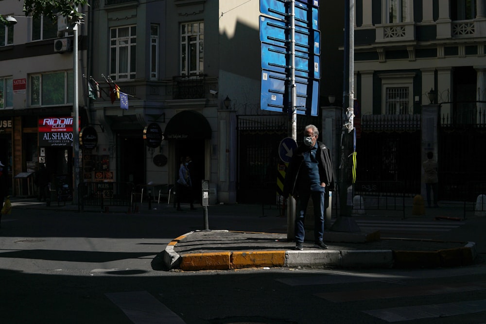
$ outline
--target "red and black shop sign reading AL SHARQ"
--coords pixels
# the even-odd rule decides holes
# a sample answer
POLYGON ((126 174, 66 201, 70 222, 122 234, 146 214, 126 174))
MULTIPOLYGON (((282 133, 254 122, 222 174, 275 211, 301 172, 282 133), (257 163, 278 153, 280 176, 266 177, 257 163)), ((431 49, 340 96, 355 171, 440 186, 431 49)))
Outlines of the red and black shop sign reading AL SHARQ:
POLYGON ((72 121, 72 117, 40 118, 39 146, 72 146, 72 121))

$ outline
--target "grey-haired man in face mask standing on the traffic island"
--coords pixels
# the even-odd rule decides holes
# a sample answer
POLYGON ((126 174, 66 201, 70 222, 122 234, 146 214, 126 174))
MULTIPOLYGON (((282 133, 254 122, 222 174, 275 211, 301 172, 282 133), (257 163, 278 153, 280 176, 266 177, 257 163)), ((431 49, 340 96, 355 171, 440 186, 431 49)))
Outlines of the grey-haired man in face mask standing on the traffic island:
POLYGON ((283 195, 292 195, 297 201, 295 215, 295 250, 303 250, 305 236, 304 220, 307 204, 312 197, 314 205, 314 247, 327 249, 323 242, 324 210, 329 201, 324 198, 329 190, 334 189, 334 172, 330 150, 317 141, 319 130, 314 125, 307 125, 304 131, 304 143, 299 145, 292 155, 287 170, 283 195), (326 190, 327 189, 327 190, 326 190), (326 192, 327 191, 327 192, 326 192))

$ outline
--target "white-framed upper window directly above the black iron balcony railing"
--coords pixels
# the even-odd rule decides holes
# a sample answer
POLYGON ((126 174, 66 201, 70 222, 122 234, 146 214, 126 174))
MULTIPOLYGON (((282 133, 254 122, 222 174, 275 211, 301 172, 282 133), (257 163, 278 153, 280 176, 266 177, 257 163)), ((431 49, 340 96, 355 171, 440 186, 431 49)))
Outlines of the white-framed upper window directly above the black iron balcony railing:
POLYGON ((181 24, 181 75, 204 71, 204 22, 181 24))

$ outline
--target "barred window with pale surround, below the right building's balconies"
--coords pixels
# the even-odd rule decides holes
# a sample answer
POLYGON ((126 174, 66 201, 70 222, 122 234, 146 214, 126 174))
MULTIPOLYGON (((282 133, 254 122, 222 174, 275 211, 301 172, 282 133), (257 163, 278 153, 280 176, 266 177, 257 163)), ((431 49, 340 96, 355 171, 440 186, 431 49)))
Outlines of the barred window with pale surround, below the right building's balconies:
POLYGON ((378 76, 382 81, 382 114, 413 114, 412 97, 415 73, 383 73, 378 76))

